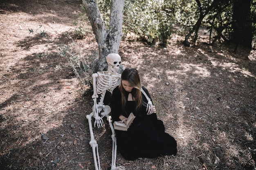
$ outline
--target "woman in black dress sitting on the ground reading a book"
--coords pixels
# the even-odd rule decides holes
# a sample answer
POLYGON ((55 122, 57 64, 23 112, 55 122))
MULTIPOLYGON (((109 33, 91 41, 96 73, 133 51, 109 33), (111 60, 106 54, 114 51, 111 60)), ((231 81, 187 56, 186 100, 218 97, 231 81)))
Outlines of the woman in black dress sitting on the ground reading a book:
POLYGON ((136 116, 127 131, 115 130, 117 148, 125 159, 177 153, 175 139, 164 132, 164 124, 157 119, 155 106, 150 104, 152 100, 147 89, 141 86, 138 71, 126 68, 121 83, 112 93, 111 102, 113 122, 126 123, 130 113, 136 116))

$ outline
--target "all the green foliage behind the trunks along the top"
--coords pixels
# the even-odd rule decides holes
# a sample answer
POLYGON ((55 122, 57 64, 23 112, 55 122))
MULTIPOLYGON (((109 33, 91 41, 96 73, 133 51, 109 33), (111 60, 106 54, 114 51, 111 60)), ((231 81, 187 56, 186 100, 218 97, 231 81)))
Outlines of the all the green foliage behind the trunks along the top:
MULTIPOLYGON (((185 35, 192 30, 200 15, 204 15, 201 26, 206 28, 209 43, 217 40, 229 42, 231 39, 234 0, 129 0, 125 1, 124 36, 136 35, 148 44, 159 40, 166 46, 167 39, 178 24, 178 33, 185 35), (213 4, 213 5, 212 5, 213 4), (212 6, 211 6, 212 5, 212 6), (211 8, 209 8, 211 6, 211 8), (209 9, 209 10, 208 10, 209 9)), ((98 0, 99 9, 106 26, 109 24, 111 0, 98 0)), ((256 0, 252 0, 253 36, 256 37, 256 0)), ((197 39, 196 34, 191 35, 197 39)))

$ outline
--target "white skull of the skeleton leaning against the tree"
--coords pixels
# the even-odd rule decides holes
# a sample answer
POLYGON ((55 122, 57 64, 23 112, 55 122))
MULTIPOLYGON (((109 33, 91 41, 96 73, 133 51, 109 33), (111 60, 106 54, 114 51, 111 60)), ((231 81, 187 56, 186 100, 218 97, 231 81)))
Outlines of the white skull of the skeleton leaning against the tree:
POLYGON ((121 65, 121 57, 116 53, 110 53, 107 56, 108 70, 117 73, 121 65))

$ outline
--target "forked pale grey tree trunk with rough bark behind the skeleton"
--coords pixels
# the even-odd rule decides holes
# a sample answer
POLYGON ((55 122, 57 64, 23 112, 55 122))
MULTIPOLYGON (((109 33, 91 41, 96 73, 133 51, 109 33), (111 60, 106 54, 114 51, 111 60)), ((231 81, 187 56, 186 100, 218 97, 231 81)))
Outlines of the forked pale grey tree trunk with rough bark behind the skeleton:
POLYGON ((82 3, 98 43, 99 57, 94 63, 94 73, 107 70, 106 56, 109 53, 118 53, 123 36, 124 0, 112 0, 109 29, 106 29, 96 0, 82 0, 82 3))

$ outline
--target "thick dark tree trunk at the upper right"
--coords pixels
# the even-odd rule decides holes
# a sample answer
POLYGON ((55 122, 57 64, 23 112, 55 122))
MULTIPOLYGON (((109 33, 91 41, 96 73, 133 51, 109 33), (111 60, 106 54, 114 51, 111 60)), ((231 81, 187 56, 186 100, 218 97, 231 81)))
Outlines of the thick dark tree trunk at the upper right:
POLYGON ((251 0, 235 0, 232 42, 252 48, 251 0))

